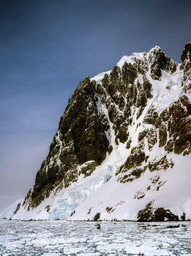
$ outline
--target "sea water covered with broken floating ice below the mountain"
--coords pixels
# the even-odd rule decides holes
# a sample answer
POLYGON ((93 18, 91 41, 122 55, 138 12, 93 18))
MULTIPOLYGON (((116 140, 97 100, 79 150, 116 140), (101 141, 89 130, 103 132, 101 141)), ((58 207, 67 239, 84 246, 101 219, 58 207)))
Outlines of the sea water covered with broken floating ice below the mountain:
POLYGON ((191 255, 191 221, 0 220, 0 255, 191 255))

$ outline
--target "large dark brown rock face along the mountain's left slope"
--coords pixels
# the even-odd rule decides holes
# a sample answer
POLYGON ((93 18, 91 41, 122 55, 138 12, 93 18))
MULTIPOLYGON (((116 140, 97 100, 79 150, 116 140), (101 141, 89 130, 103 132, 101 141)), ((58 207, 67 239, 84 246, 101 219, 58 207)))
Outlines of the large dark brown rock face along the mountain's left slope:
POLYGON ((40 204, 63 180, 65 187, 77 181, 78 164, 93 161, 82 169, 87 177, 105 159, 109 147, 105 130, 109 124, 98 113, 95 93, 95 83, 85 77, 70 97, 49 155, 36 174, 31 207, 40 204))

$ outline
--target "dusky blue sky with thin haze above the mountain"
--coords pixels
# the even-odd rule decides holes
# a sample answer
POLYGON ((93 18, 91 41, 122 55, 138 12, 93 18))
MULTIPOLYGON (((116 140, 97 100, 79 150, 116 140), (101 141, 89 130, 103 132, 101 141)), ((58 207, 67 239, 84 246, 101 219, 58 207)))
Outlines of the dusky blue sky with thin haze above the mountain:
POLYGON ((0 0, 0 211, 33 186, 80 80, 155 45, 180 63, 190 11, 187 0, 0 0))

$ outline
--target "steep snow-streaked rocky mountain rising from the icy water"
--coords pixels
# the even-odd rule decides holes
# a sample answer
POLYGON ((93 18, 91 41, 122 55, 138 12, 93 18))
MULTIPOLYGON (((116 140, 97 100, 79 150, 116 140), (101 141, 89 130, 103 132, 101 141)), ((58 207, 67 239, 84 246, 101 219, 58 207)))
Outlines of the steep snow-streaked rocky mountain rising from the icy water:
POLYGON ((190 49, 181 64, 156 46, 84 77, 8 218, 190 220, 190 49))

